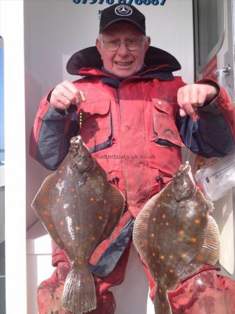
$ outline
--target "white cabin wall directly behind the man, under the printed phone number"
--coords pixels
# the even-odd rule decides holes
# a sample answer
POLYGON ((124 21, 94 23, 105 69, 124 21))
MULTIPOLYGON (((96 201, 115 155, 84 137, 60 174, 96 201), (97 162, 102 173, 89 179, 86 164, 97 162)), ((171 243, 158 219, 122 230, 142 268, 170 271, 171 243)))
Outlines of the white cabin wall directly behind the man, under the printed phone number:
MULTIPOLYGON (((116 1, 115 1, 116 3, 116 1)), ((29 134, 38 103, 63 80, 66 62, 76 51, 94 45, 98 34, 98 10, 107 5, 75 4, 72 0, 24 1, 24 49, 26 89, 26 223, 28 314, 36 314, 36 287, 52 274, 50 237, 31 210, 31 202, 49 173, 28 154, 29 134), (33 225, 35 223, 35 225, 33 225)), ((185 82, 193 82, 192 0, 167 0, 165 6, 137 6, 146 15, 151 45, 173 54, 181 63, 185 82)), ((132 247, 126 279, 112 288, 116 314, 153 314, 147 295, 148 282, 132 247)))

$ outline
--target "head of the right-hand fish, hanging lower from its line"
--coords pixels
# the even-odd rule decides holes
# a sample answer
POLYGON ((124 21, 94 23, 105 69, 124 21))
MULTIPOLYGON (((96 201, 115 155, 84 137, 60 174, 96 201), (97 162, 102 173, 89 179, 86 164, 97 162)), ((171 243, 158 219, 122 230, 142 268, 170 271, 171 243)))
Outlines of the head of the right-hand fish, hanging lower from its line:
POLYGON ((194 195, 196 186, 191 178, 191 167, 188 164, 181 165, 179 170, 173 174, 172 194, 177 202, 194 195))

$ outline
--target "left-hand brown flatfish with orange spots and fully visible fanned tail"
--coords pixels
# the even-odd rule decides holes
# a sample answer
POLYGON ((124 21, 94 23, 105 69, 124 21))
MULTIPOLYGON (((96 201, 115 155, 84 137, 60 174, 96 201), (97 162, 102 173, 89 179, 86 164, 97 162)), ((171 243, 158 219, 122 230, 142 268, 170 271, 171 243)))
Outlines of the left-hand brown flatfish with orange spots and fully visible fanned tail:
POLYGON ((45 179, 32 207, 54 242, 72 264, 63 289, 62 306, 82 314, 96 308, 89 258, 111 236, 125 206, 121 192, 93 159, 82 137, 70 140, 61 166, 45 179))

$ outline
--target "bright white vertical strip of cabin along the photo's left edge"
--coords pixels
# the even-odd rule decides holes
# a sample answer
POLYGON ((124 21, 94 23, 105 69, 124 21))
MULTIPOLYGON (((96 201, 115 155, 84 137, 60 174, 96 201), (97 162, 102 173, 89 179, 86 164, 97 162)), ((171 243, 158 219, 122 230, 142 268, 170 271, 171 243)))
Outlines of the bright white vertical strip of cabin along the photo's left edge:
POLYGON ((6 313, 23 314, 26 313, 23 0, 0 0, 0 35, 4 41, 6 313))

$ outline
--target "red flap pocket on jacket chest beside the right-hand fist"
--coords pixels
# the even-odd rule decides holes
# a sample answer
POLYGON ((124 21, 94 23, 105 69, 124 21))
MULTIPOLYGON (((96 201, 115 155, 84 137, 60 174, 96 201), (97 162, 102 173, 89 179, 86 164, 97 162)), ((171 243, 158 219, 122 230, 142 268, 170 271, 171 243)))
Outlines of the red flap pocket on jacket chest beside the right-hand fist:
POLYGON ((176 103, 153 98, 153 133, 151 140, 162 146, 177 145, 183 147, 183 142, 176 127, 176 103))

